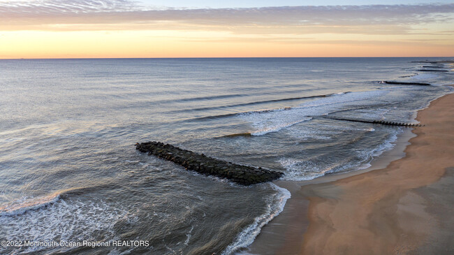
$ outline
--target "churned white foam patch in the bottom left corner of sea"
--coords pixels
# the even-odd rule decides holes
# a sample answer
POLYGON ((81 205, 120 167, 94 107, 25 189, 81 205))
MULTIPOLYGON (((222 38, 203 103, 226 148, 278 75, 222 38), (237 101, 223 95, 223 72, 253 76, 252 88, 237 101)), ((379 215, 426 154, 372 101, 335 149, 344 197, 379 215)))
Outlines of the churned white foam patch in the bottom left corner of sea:
MULTIPOLYGON (((130 217, 121 205, 102 200, 84 201, 59 199, 45 208, 27 210, 13 217, 0 217, 6 240, 75 241, 90 240, 98 230, 105 238, 115 238, 115 223, 130 217), (110 235, 110 236, 109 236, 110 235)), ((45 247, 24 247, 21 252, 36 252, 45 247)))

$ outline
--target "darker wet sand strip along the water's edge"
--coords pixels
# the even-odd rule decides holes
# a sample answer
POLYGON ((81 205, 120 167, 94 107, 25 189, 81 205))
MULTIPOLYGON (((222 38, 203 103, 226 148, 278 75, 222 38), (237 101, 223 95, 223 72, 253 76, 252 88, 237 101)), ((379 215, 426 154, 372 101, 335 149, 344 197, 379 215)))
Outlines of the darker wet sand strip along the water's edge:
POLYGON ((405 148, 410 144, 409 140, 416 135, 412 133, 412 128, 404 128, 404 131, 397 136, 395 146, 390 150, 384 151, 379 156, 375 156, 369 162, 368 168, 351 170, 342 173, 332 173, 316 177, 312 180, 291 181, 291 180, 276 180, 273 183, 278 187, 288 190, 291 193, 291 198, 288 198, 284 210, 278 214, 272 221, 263 226, 261 233, 256 237, 256 240, 247 247, 246 251, 237 252, 236 254, 298 254, 298 249, 295 247, 286 247, 288 240, 298 242, 302 238, 309 221, 307 219, 307 210, 309 210, 309 201, 298 193, 302 186, 309 184, 322 184, 326 182, 334 182, 346 177, 367 173, 372 170, 386 168, 391 162, 402 159, 405 156, 405 148), (298 215, 298 217, 295 217, 298 215))

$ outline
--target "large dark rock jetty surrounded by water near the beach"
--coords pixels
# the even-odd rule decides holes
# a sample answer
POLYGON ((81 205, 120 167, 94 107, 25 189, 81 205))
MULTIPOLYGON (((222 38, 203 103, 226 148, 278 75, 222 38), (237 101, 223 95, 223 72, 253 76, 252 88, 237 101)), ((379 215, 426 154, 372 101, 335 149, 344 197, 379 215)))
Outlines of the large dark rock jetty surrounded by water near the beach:
POLYGON ((204 154, 182 150, 179 147, 159 142, 136 143, 136 150, 148 152, 149 155, 172 161, 184 166, 187 170, 226 178, 243 185, 270 182, 279 179, 283 175, 281 172, 213 159, 204 154))

